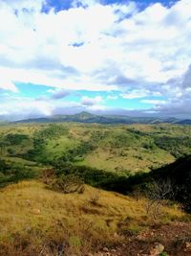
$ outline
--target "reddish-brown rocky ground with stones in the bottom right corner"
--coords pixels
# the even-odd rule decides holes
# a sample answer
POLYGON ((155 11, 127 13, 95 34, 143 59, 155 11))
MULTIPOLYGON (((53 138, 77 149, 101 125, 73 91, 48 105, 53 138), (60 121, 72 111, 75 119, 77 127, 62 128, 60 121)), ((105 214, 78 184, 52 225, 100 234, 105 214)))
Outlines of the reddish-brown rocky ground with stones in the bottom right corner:
POLYGON ((88 256, 190 256, 191 223, 175 222, 154 225, 137 236, 126 237, 124 244, 109 249, 104 247, 88 256))

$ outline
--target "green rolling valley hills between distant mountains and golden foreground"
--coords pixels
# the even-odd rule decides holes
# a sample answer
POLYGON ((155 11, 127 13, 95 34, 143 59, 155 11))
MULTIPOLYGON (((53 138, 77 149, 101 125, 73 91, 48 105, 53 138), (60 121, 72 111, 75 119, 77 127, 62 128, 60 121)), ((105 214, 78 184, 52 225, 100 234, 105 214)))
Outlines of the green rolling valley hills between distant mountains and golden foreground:
MULTIPOLYGON (((34 175, 36 172, 31 170, 47 166, 62 168, 70 175, 78 173, 86 183, 120 192, 123 191, 121 180, 130 175, 158 169, 190 154, 191 127, 76 123, 7 125, 0 127, 0 151, 3 161, 9 166, 11 162, 10 170, 21 166, 34 175)), ((8 180, 13 178, 9 175, 8 180)))

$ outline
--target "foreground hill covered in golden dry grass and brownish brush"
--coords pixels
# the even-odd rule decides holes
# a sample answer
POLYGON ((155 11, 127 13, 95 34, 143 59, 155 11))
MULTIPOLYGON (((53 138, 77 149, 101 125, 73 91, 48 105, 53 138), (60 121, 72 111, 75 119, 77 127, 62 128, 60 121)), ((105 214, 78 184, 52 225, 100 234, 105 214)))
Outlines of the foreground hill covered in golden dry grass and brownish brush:
POLYGON ((164 244, 168 253, 173 250, 174 256, 188 255, 173 247, 189 233, 188 223, 173 222, 185 214, 177 206, 163 207, 156 229, 145 204, 144 198, 89 186, 83 194, 67 195, 47 189, 39 181, 8 186, 1 190, 0 255, 129 256, 148 254, 156 242, 164 244), (156 236, 149 235, 152 232, 156 236))

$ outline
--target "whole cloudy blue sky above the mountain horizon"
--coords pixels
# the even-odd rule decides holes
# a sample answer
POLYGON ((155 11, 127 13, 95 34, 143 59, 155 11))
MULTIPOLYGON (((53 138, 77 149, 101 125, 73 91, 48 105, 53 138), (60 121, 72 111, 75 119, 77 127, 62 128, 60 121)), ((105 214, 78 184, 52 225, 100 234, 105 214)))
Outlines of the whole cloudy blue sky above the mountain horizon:
POLYGON ((190 57, 190 0, 0 0, 0 118, 191 118, 190 57))

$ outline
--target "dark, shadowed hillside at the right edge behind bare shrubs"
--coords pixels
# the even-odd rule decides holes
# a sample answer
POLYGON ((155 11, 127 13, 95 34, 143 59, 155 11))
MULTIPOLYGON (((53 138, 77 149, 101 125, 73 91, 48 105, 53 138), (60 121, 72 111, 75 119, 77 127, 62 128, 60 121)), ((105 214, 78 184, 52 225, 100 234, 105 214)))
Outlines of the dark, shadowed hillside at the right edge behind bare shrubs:
POLYGON ((159 193, 163 194, 163 199, 172 197, 182 203, 183 208, 191 213, 191 155, 182 157, 148 174, 134 175, 130 177, 128 184, 130 191, 134 188, 144 191, 145 188, 154 185, 154 193, 158 194, 156 197, 159 196, 159 193))

